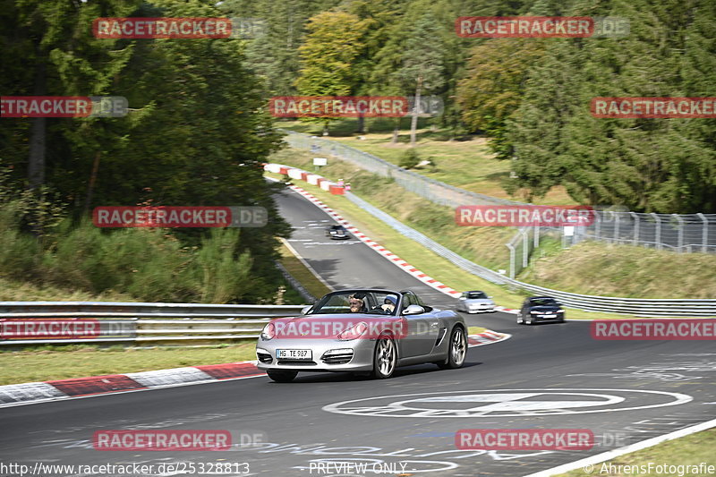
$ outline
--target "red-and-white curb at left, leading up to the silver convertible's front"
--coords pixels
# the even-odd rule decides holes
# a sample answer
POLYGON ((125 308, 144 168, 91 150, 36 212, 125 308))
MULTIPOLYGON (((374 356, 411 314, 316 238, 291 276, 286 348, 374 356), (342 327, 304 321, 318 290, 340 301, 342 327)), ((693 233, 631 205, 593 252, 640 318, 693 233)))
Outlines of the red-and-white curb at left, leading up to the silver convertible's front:
POLYGON ((154 388, 174 388, 230 379, 265 376, 256 362, 227 362, 171 370, 109 374, 89 378, 58 379, 0 386, 0 407, 99 396, 154 388))

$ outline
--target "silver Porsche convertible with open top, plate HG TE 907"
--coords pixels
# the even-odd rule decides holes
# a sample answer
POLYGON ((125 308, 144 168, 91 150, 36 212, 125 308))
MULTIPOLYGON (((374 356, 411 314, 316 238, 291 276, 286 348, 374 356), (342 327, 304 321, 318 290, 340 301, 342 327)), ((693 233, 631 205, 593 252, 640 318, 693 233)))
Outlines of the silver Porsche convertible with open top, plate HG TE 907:
POLYGON ((410 290, 339 290, 298 317, 271 320, 256 344, 258 367, 278 382, 300 371, 350 371, 390 378, 399 366, 433 362, 463 366, 467 325, 410 290))

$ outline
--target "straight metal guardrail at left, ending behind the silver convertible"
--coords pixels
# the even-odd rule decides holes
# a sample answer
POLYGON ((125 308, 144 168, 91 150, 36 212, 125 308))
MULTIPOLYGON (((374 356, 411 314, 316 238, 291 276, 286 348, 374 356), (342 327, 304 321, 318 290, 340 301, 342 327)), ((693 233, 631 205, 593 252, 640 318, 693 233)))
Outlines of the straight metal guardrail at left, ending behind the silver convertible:
POLYGON ((255 339, 269 319, 297 315, 303 306, 0 302, 0 345, 166 344, 255 339), (77 327, 81 331, 78 332, 77 327))

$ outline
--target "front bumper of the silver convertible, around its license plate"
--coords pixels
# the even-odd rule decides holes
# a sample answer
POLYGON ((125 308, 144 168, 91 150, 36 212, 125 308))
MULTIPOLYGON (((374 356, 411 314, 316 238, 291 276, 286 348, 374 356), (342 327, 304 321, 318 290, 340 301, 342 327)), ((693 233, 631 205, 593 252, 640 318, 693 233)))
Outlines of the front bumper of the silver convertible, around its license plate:
POLYGON ((375 339, 259 340, 257 367, 263 371, 372 371, 375 339), (278 359, 277 350, 311 350, 311 360, 278 359), (270 361, 268 361, 270 359, 270 361))

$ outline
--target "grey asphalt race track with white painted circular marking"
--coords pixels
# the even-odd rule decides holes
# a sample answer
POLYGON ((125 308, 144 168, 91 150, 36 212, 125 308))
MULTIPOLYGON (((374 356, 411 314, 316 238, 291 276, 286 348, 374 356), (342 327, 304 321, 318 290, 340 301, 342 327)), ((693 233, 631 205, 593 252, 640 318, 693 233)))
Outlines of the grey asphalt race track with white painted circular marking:
MULTIPOLYGON (((296 227, 291 244, 329 284, 410 287, 428 304, 450 304, 358 240, 324 237, 329 218, 308 200, 286 192, 279 205, 296 227)), ((430 477, 522 476, 716 413, 712 342, 596 341, 587 322, 526 327, 506 313, 471 315, 469 321, 512 337, 471 348, 465 368, 455 371, 420 365, 380 381, 304 373, 288 384, 259 377, 3 408, 0 461, 245 462, 250 473, 221 474, 341 477, 359 473, 325 465, 354 463, 369 464, 368 476, 401 469, 430 477), (456 430, 477 428, 592 430, 597 445, 581 451, 456 449, 456 430), (96 430, 126 429, 230 430, 260 435, 263 443, 213 452, 92 448, 96 430)), ((666 464, 679 464, 678 456, 672 461, 666 464)))

